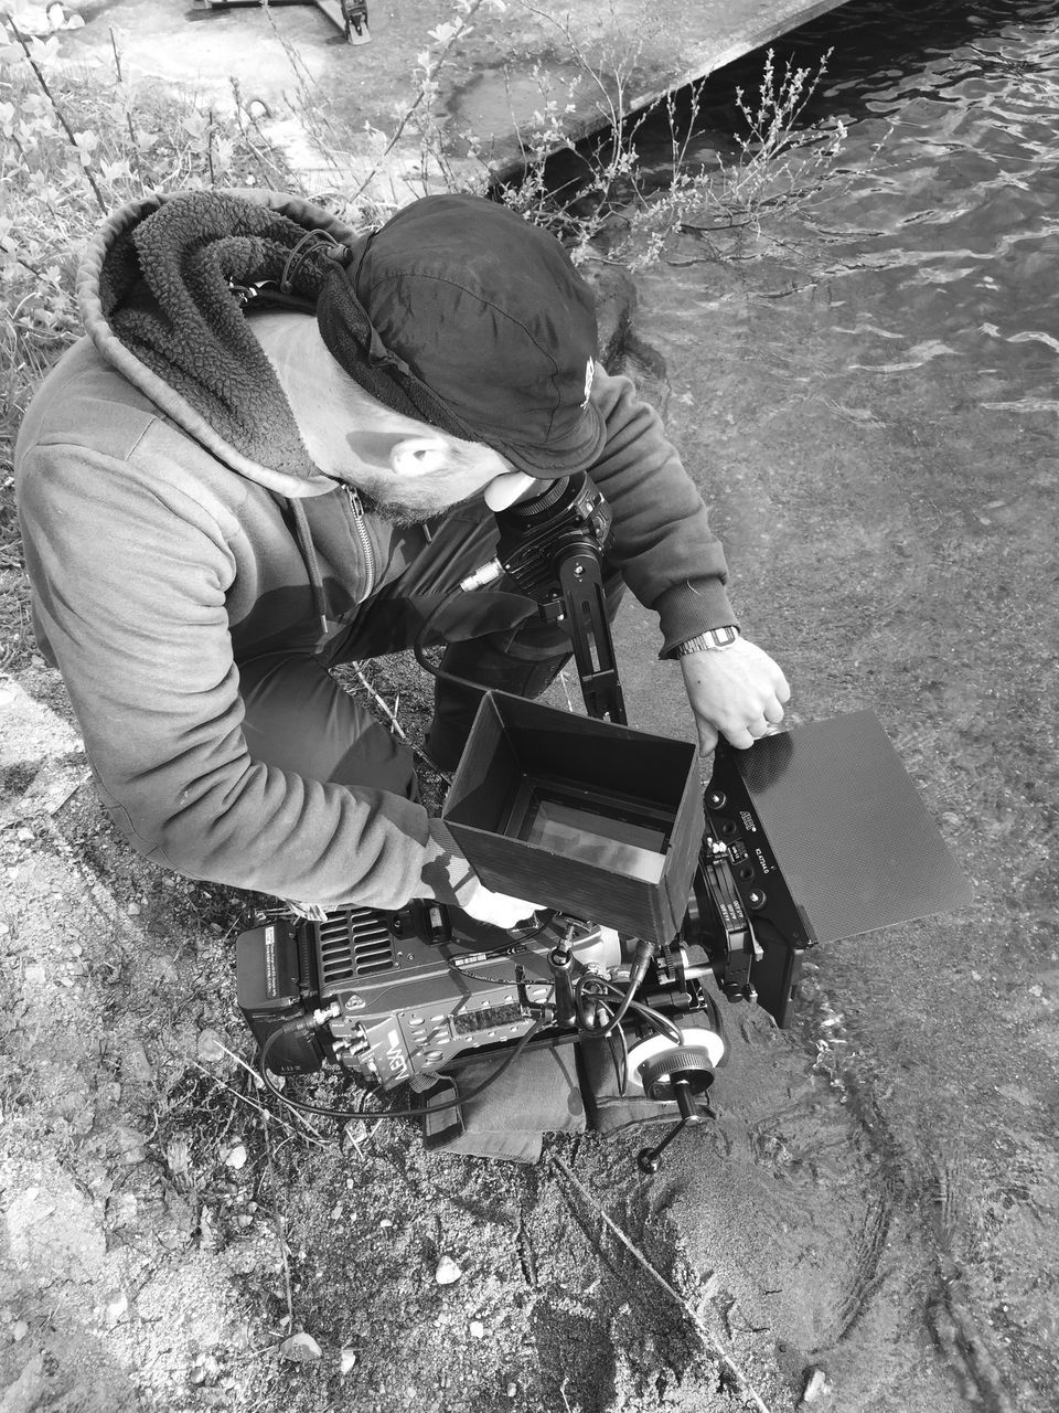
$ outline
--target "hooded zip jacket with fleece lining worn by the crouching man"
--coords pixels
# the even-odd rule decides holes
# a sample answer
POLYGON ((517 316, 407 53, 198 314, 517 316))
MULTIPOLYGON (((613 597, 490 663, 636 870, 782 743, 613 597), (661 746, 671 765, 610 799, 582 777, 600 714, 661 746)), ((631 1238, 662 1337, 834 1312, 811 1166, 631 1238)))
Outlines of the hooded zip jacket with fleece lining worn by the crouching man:
MULTIPOLYGON (((196 226, 189 194, 128 205, 85 257, 86 336, 41 386, 16 448, 34 629, 103 803, 143 853, 325 907, 400 907, 429 892, 424 808, 254 760, 239 694, 240 661, 319 649, 407 548, 312 463, 230 292, 282 274, 312 300, 321 249, 354 235, 297 198, 229 195, 223 229, 216 202, 196 226), (155 239, 164 223, 145 230, 157 212, 176 249, 155 239)), ((723 554, 633 384, 600 372, 592 396, 607 427, 592 476, 665 653, 734 620, 723 554)))

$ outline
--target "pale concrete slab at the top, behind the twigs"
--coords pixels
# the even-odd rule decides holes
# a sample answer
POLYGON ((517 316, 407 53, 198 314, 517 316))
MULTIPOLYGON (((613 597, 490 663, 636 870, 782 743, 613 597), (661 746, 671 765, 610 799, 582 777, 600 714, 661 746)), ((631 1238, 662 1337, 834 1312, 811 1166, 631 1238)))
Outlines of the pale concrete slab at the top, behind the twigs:
MULTIPOLYGON (((460 20, 452 0, 370 0, 371 42, 350 45, 313 4, 181 8, 167 0, 89 0, 80 7, 86 25, 64 35, 64 51, 113 65, 113 30, 126 72, 181 82, 227 103, 234 78, 243 97, 261 99, 275 122, 315 122, 332 150, 323 167, 354 175, 381 146, 366 136, 366 124, 393 133, 417 99, 419 55, 445 51, 432 112, 453 138, 477 138, 491 170, 505 172, 518 164, 520 134, 539 127, 532 114, 549 102, 563 131, 583 137, 611 110, 648 106, 842 0, 500 3, 469 0, 467 28, 446 45, 439 27, 460 20)), ((306 158, 299 155, 301 165, 306 158)))

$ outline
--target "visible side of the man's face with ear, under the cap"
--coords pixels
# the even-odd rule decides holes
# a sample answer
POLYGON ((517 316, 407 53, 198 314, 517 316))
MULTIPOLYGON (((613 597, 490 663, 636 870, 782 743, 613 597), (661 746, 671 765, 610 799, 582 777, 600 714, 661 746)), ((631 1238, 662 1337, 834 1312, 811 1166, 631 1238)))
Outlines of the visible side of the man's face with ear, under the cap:
POLYGON ((511 463, 491 447, 456 439, 439 445, 425 439, 419 445, 409 438, 388 466, 361 462, 349 479, 377 514, 395 524, 421 524, 473 500, 511 471, 511 463))

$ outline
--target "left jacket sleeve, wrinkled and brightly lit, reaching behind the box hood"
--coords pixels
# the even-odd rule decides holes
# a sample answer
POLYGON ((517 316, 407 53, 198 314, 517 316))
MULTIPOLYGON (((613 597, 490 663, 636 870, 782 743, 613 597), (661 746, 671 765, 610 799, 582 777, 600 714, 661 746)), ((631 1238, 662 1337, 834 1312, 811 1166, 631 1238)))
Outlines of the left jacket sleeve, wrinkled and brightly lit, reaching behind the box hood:
POLYGON ((328 907, 422 892, 426 812, 251 759, 216 520, 119 459, 37 445, 20 468, 34 609, 107 810, 193 877, 328 907))

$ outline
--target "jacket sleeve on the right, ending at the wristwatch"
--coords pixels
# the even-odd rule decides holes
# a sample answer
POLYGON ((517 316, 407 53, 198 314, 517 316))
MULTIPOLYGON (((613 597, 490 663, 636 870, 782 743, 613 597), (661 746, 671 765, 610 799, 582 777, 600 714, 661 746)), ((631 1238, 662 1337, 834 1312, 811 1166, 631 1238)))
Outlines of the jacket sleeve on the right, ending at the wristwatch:
POLYGON ((666 657, 695 633, 738 622, 724 591, 724 551, 661 417, 630 379, 599 369, 592 397, 607 427, 592 479, 614 512, 613 557, 633 593, 658 613, 666 657))

